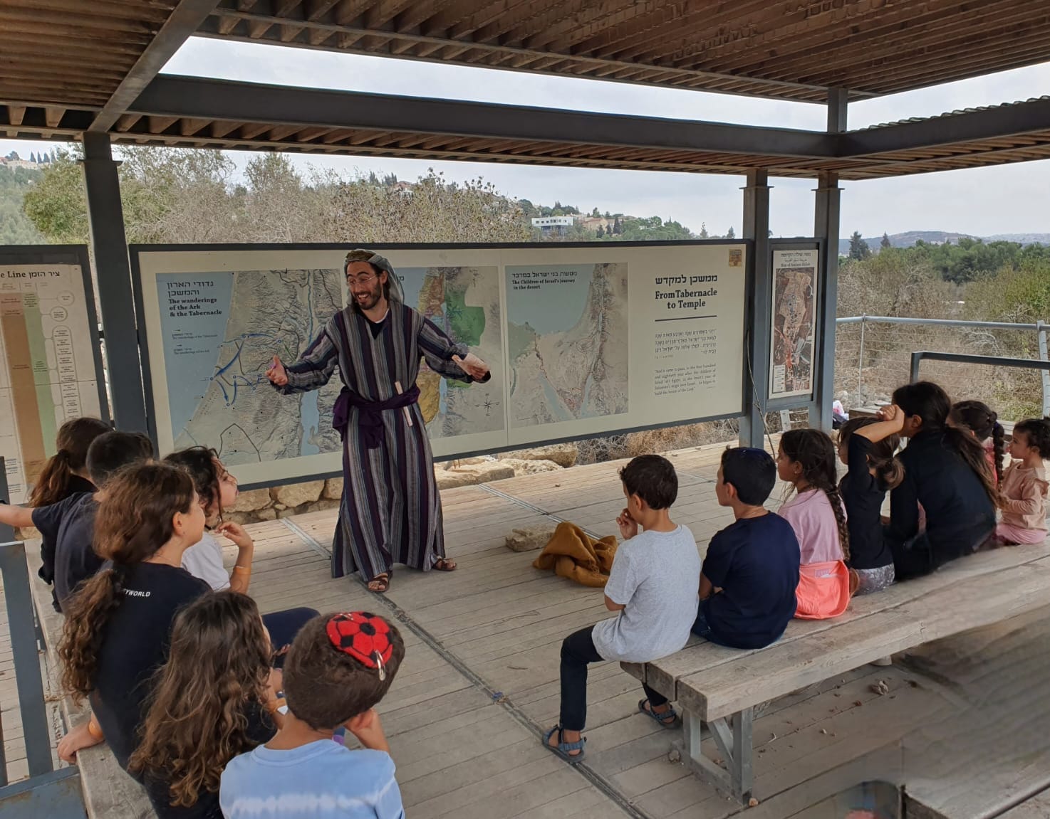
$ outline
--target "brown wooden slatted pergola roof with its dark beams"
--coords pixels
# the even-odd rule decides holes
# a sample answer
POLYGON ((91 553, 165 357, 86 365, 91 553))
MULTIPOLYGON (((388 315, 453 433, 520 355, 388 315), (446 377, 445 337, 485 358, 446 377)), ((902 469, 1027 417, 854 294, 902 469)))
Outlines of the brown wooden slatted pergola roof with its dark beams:
POLYGON ((827 134, 158 77, 194 34, 827 103, 1048 61, 1050 3, 8 0, 0 134, 842 178, 1050 157, 1046 100, 827 134))

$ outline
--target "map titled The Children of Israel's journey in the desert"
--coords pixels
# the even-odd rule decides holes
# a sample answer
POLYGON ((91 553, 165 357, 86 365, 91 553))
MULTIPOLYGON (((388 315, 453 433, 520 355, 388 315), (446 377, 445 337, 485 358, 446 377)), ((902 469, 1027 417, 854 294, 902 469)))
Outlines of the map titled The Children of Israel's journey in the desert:
POLYGON ((507 266, 510 426, 628 412, 627 264, 507 266))

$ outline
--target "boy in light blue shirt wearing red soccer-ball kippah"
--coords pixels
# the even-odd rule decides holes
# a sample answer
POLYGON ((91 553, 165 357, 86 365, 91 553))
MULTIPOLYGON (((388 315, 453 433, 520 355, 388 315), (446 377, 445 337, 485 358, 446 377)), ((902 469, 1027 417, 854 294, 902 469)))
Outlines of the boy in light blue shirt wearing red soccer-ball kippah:
POLYGON ((375 615, 323 615, 307 623, 285 661, 284 725, 226 767, 223 816, 403 819, 390 746, 372 710, 403 658, 401 634, 375 615), (340 728, 364 750, 332 741, 340 728))

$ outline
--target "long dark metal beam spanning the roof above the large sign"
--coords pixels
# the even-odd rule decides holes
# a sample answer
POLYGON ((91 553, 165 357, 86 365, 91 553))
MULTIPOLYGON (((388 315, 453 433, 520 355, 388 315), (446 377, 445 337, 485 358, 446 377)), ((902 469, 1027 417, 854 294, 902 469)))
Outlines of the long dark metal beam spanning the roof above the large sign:
POLYGON ((153 116, 640 149, 834 158, 815 131, 161 76, 128 108, 153 116))

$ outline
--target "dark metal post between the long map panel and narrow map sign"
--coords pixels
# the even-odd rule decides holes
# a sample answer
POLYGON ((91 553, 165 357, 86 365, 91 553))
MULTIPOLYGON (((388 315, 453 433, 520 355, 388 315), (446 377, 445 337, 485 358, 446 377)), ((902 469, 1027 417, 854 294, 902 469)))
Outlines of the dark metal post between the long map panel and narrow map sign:
POLYGON ((761 447, 770 389, 770 310, 773 270, 770 259, 770 185, 765 170, 748 171, 743 189, 743 238, 754 244, 744 338, 743 415, 740 446, 761 447))

